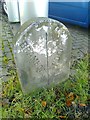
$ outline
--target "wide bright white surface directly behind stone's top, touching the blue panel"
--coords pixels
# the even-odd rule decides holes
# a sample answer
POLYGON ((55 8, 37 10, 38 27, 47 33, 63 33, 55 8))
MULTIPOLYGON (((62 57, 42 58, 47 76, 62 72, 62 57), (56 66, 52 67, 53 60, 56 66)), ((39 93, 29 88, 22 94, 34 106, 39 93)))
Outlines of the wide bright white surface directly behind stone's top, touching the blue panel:
POLYGON ((48 0, 19 0, 21 25, 33 17, 48 17, 48 0))

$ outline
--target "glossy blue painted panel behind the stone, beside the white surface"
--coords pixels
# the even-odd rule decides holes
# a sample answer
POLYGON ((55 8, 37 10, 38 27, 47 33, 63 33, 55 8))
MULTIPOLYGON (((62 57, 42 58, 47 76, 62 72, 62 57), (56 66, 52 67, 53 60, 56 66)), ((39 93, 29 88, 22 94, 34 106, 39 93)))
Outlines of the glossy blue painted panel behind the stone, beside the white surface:
POLYGON ((90 25, 90 2, 50 2, 49 17, 83 27, 90 25))

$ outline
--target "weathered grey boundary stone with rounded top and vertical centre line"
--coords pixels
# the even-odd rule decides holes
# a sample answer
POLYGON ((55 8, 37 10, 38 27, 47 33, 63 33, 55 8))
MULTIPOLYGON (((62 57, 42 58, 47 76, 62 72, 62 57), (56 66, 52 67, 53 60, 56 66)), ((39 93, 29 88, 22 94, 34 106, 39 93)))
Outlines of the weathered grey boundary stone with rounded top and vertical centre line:
POLYGON ((21 26, 14 42, 24 91, 59 83, 69 75, 71 38, 59 21, 33 18, 21 26))

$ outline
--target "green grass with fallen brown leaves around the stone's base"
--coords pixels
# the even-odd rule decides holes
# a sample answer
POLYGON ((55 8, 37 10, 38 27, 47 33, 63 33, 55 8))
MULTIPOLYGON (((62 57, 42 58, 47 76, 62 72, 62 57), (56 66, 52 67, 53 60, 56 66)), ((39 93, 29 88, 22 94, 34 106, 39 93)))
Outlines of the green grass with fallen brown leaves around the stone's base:
MULTIPOLYGON (((3 63, 8 64, 6 56, 3 63)), ((82 114, 77 108, 87 106, 89 99, 88 56, 75 63, 72 69, 75 75, 65 82, 28 95, 22 93, 15 69, 9 70, 9 81, 2 81, 2 118, 68 120, 71 116, 80 119, 82 114)))

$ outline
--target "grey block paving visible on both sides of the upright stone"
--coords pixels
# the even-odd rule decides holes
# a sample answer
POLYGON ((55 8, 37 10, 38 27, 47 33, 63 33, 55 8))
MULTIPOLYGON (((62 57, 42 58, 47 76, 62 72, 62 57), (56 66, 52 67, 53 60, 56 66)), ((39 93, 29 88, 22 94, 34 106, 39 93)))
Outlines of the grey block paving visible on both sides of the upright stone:
MULTIPOLYGON (((88 52, 88 30, 75 25, 65 24, 72 36, 72 63, 84 57, 88 52)), ((0 78, 7 81, 10 77, 9 69, 15 69, 13 57, 13 37, 20 27, 20 23, 9 23, 6 15, 0 10, 0 78), (1 49, 2 48, 2 49, 1 49), (8 59, 8 60, 6 60, 8 59), (2 64, 2 61, 8 61, 2 64)))

